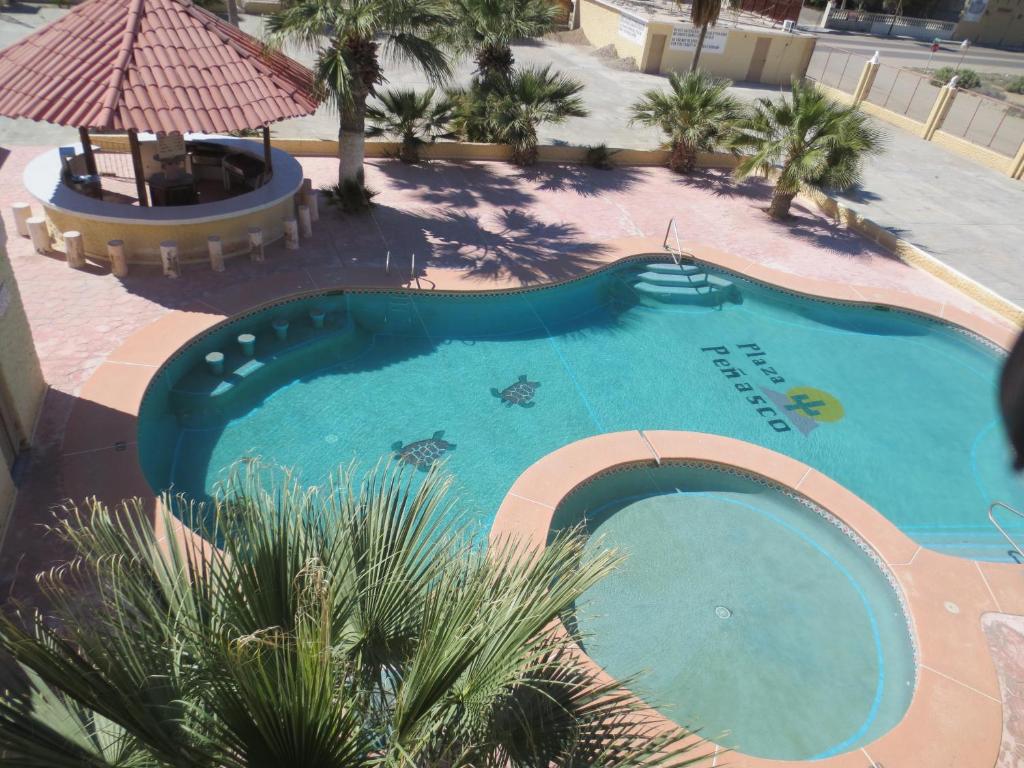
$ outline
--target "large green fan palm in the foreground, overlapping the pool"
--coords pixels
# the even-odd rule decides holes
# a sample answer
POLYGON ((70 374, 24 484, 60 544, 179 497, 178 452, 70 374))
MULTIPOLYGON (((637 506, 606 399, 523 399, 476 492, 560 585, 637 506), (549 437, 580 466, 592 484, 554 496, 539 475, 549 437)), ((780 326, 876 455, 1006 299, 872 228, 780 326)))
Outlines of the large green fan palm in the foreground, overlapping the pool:
POLYGON ((25 673, 0 697, 4 765, 700 759, 681 729, 651 736, 639 700, 555 629, 614 555, 585 560, 577 535, 483 551, 453 522, 449 480, 411 474, 317 489, 252 465, 212 508, 179 504, 199 544, 158 542, 137 505, 74 511, 56 532, 78 557, 41 577, 52 615, 0 618, 25 673))

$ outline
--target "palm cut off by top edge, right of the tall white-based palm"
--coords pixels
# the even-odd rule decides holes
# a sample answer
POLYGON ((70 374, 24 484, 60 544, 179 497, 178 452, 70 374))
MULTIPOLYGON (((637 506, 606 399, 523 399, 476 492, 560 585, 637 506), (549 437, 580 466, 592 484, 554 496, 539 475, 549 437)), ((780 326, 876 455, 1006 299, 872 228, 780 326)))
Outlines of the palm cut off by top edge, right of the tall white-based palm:
POLYGON ((473 52, 484 82, 511 76, 512 42, 550 32, 558 13, 552 0, 447 0, 447 8, 443 39, 473 52))

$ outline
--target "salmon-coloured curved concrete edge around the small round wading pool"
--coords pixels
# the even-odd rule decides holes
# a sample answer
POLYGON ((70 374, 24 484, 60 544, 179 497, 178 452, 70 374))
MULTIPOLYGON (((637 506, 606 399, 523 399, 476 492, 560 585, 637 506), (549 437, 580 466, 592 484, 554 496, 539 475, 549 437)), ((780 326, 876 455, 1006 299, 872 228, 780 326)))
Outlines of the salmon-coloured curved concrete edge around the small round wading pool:
MULTIPOLYGON (((730 752, 745 768, 868 765, 991 768, 1002 735, 1002 707, 981 616, 1006 610, 982 564, 922 548, 860 498, 811 467, 782 454, 729 437, 679 431, 612 432, 564 445, 530 466, 512 484, 489 540, 541 550, 555 509, 581 484, 608 470, 692 461, 737 469, 792 490, 839 518, 879 555, 903 593, 919 652, 918 682, 898 725, 869 744, 816 761, 782 761, 730 752)), ((1007 580, 1012 565, 1000 565, 1007 580)), ((987 569, 986 569, 987 571, 987 569)), ((1017 575, 1019 577, 1019 571, 1017 575)), ((1004 586, 1009 589, 1009 584, 1004 586)), ((1017 593, 1021 590, 1018 588, 1017 593)), ((1014 595, 1012 612, 1024 608, 1014 595)), ((593 665, 582 649, 581 654, 593 665)), ((601 672, 603 679, 608 678, 601 672)), ((675 724, 654 710, 644 720, 675 724)), ((718 746, 715 745, 717 754, 718 746)))

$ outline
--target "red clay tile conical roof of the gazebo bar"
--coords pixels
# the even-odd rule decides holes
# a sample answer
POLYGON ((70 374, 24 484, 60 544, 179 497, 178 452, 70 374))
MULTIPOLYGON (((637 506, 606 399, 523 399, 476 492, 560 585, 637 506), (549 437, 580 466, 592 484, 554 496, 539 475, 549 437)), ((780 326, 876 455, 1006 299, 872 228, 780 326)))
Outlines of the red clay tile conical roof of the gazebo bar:
POLYGON ((316 109, 312 74, 189 0, 88 0, 0 51, 0 115, 217 133, 316 109))

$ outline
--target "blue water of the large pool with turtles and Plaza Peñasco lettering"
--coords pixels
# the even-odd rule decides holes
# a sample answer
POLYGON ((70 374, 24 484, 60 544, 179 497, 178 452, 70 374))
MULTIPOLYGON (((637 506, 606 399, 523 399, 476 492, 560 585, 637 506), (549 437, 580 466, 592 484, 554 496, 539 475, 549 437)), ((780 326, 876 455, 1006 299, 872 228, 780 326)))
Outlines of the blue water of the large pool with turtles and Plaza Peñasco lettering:
POLYGON ((695 430, 815 467, 928 547, 1008 556, 986 519, 995 499, 1024 506, 996 415, 999 354, 936 322, 730 275, 721 303, 680 303, 702 299, 645 293, 645 273, 628 264, 504 295, 324 295, 238 318, 151 387, 143 468, 157 488, 202 496, 244 457, 315 482, 395 445, 421 457, 454 445, 434 455, 486 524, 518 474, 567 442, 695 430), (254 359, 237 351, 242 332, 256 334, 254 359), (202 362, 217 349, 221 377, 202 362), (520 376, 540 386, 526 407, 507 404, 499 395, 520 376))

